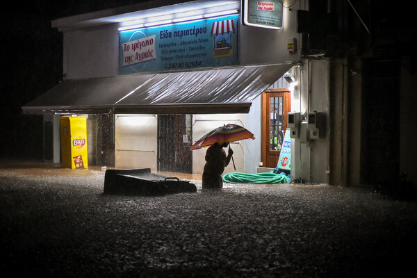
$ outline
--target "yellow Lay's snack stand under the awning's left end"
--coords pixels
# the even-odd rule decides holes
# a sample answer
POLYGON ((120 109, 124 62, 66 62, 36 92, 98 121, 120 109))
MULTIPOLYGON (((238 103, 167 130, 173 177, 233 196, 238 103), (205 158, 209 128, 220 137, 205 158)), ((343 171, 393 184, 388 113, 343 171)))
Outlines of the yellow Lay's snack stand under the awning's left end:
POLYGON ((87 117, 60 117, 63 167, 88 169, 87 117))

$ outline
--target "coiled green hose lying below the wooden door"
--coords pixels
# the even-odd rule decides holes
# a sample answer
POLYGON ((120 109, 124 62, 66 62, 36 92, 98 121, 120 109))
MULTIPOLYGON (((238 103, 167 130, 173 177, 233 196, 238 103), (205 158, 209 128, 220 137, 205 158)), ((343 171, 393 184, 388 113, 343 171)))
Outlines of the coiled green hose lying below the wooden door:
POLYGON ((261 183, 289 183, 288 177, 284 174, 263 172, 258 174, 227 173, 222 177, 227 183, 261 184, 261 183))

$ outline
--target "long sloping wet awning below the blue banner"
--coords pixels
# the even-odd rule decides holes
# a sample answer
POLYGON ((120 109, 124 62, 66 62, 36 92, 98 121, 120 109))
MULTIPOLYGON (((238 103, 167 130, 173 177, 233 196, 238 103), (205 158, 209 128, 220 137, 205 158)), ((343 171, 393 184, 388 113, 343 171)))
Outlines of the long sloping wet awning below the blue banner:
POLYGON ((291 64, 67 79, 22 107, 28 114, 248 113, 291 64))

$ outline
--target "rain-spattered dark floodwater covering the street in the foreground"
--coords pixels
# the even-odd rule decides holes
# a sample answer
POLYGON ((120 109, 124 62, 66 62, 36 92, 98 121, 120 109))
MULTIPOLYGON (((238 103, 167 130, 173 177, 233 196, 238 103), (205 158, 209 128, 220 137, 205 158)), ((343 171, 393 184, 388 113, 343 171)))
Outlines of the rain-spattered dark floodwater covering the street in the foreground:
MULTIPOLYGON (((104 171, 0 164, 1 272, 26 277, 408 277, 417 204, 369 187, 104 195, 104 171)), ((411 272, 412 273, 412 272, 411 272)))

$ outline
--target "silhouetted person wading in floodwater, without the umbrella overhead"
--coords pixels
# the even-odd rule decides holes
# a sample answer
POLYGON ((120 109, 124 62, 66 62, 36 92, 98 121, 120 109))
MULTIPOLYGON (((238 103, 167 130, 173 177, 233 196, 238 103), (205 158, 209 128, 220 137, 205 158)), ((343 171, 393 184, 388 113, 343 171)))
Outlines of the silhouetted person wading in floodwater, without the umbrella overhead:
POLYGON ((233 155, 233 150, 229 147, 229 152, 226 156, 224 147, 227 143, 220 145, 214 143, 206 152, 206 165, 204 165, 202 187, 204 189, 223 188, 222 174, 224 167, 229 165, 230 158, 233 155))

